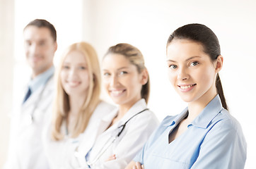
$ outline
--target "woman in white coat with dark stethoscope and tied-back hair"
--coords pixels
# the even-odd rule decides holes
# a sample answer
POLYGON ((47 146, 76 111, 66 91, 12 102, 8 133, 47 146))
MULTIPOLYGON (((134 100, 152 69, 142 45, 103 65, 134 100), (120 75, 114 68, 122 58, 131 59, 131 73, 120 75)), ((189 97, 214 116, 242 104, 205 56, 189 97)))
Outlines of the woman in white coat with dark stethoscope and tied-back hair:
MULTIPOLYGON (((82 168, 123 169, 132 161, 158 125, 147 108, 149 74, 136 47, 117 44, 103 58, 103 84, 117 104, 103 119, 100 134, 90 149, 80 149, 82 168)), ((82 148, 82 146, 81 146, 82 148)))

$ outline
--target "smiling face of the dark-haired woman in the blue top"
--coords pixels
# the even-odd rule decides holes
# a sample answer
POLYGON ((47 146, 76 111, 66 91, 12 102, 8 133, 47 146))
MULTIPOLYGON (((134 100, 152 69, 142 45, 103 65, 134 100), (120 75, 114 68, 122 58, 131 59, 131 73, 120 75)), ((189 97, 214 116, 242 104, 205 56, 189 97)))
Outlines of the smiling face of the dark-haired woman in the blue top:
POLYGON ((202 44, 173 39, 167 47, 168 77, 182 100, 191 103, 216 95, 216 62, 204 53, 202 44))

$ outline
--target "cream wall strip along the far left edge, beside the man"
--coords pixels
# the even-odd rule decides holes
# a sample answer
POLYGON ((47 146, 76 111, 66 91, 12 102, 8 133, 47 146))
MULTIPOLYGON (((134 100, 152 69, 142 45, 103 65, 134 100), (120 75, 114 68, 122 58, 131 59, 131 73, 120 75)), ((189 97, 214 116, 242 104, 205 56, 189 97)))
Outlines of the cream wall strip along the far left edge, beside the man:
POLYGON ((0 0, 0 168, 6 160, 13 92, 14 1, 0 0))

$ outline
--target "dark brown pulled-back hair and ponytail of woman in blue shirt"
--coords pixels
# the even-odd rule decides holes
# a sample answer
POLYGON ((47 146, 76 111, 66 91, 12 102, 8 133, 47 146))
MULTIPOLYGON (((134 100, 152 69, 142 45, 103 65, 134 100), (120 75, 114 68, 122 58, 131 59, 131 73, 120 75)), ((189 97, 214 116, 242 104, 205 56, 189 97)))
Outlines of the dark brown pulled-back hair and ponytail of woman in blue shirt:
MULTIPOLYGON (((173 41, 173 39, 189 39, 194 42, 199 42, 204 47, 204 53, 210 56, 211 61, 215 61, 218 56, 221 55, 221 47, 219 45, 218 38, 214 32, 205 25, 193 23, 179 27, 168 38, 167 46, 173 41)), ((228 110, 219 73, 217 73, 215 84, 217 93, 221 98, 221 104, 223 108, 228 110)))

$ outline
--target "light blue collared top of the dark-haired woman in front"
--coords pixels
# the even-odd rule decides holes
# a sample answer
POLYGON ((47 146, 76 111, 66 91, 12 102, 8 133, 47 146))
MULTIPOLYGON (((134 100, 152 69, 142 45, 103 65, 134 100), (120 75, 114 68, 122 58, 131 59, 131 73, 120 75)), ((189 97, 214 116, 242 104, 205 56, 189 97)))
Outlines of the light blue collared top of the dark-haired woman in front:
POLYGON ((244 168, 247 144, 243 131, 222 107, 219 95, 169 144, 169 133, 186 116, 187 108, 167 116, 134 161, 146 169, 244 168))

